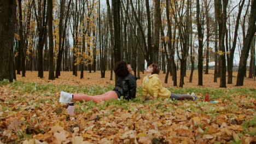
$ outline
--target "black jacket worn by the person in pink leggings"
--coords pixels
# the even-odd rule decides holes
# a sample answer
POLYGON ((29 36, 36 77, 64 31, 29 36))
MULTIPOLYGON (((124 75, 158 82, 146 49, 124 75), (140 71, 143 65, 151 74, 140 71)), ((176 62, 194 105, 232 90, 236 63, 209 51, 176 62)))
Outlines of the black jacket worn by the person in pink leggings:
POLYGON ((126 77, 119 77, 119 79, 115 82, 115 88, 113 91, 119 93, 118 98, 124 96, 124 99, 133 99, 136 97, 136 80, 137 78, 130 73, 126 77))

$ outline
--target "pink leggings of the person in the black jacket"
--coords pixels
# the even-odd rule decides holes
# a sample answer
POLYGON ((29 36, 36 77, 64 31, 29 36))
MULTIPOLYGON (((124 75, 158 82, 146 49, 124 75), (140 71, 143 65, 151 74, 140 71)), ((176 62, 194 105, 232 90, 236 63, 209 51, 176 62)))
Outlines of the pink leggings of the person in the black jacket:
POLYGON ((86 95, 83 93, 73 93, 73 100, 79 101, 91 101, 94 102, 102 101, 102 100, 110 100, 110 99, 118 99, 118 95, 115 91, 108 91, 102 95, 86 95))

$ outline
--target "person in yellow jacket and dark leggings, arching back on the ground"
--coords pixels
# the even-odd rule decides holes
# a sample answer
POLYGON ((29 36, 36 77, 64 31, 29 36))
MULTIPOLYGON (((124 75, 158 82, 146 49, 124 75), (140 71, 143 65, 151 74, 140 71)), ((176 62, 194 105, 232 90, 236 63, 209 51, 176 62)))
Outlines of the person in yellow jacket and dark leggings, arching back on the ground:
POLYGON ((197 97, 195 93, 190 94, 174 94, 171 93, 168 89, 162 87, 162 82, 158 78, 159 75, 159 68, 158 65, 153 63, 150 64, 146 70, 147 76, 143 79, 143 96, 146 99, 147 94, 155 98, 171 98, 176 100, 181 99, 190 99, 196 100, 197 97))

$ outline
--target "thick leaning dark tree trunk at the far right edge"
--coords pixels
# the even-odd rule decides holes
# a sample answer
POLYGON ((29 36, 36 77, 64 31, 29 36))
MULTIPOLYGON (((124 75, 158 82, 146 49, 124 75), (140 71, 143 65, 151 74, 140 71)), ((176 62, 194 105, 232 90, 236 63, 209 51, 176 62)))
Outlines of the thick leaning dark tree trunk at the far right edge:
POLYGON ((256 32, 256 1, 254 0, 251 5, 251 13, 249 16, 248 30, 245 39, 243 40, 243 49, 241 51, 241 57, 237 73, 236 86, 242 86, 246 73, 246 63, 249 55, 249 49, 252 43, 252 39, 256 32))

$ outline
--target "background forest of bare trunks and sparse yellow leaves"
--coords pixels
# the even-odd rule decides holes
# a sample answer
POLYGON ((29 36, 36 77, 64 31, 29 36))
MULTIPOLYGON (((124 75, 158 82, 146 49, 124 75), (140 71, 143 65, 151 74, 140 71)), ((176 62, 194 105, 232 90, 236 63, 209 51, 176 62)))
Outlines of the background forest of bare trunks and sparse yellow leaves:
POLYGON ((110 70, 112 80, 114 63, 121 60, 139 79, 146 65, 158 63, 165 82, 170 74, 179 87, 188 69, 189 82, 197 69, 199 86, 209 69, 214 69, 214 82, 220 77, 220 87, 234 83, 233 71, 238 71, 236 86, 255 75, 254 1, 103 3, 101 8, 100 1, 16 1, 13 50, 2 52, 13 68, 3 65, 1 80, 15 79, 14 70, 22 76, 36 70, 40 78, 49 71, 50 80, 63 70, 75 76, 80 71, 81 79, 84 70, 100 70, 101 77, 110 70))

